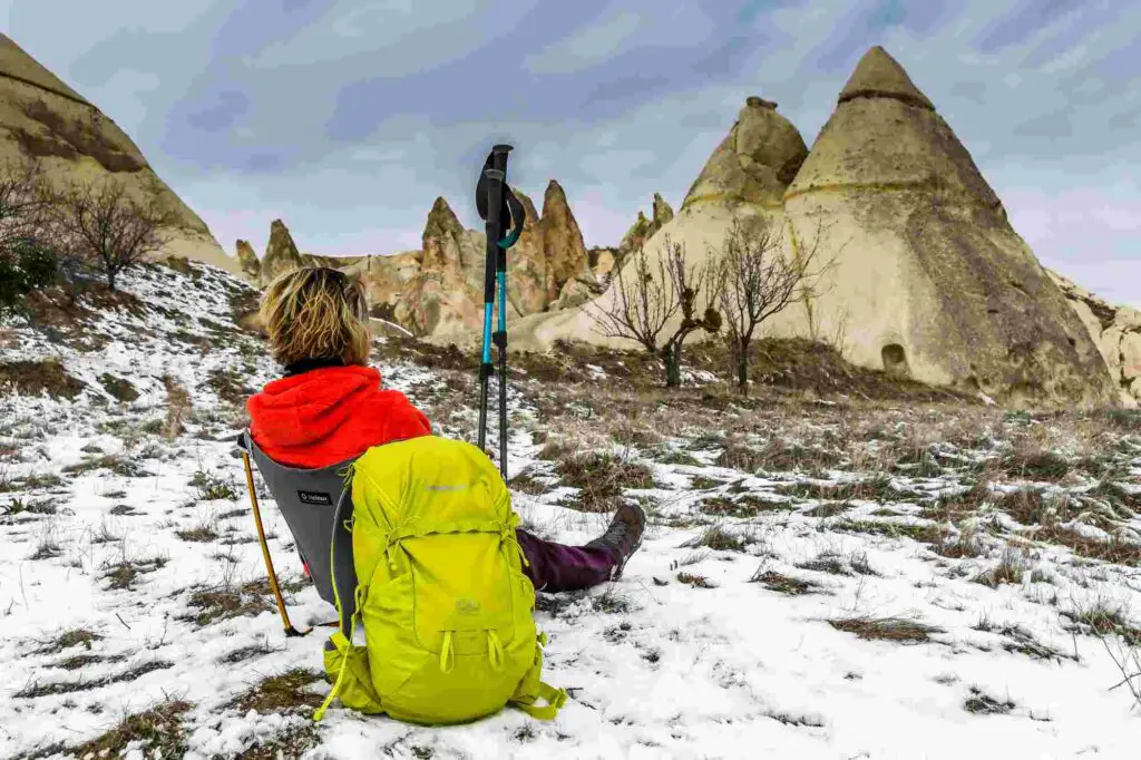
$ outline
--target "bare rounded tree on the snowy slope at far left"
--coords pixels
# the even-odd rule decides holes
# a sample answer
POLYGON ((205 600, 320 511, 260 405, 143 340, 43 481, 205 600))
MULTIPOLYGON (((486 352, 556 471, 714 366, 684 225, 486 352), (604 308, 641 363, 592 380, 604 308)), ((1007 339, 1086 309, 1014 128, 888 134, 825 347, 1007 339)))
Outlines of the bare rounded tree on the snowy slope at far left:
POLYGON ((119 179, 73 183, 55 195, 52 207, 64 244, 102 272, 112 291, 120 272, 162 250, 170 240, 165 228, 175 223, 153 183, 141 200, 119 179))

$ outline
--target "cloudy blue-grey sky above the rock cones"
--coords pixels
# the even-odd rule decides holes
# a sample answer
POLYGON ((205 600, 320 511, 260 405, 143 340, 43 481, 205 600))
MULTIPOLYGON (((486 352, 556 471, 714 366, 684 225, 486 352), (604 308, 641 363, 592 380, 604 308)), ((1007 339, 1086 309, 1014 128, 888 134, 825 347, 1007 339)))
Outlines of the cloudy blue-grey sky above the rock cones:
MULTIPOLYGON (((5 31, 143 148, 227 250, 416 248, 475 227, 495 142, 588 244, 675 207, 748 95, 809 145, 883 45, 1047 266, 1141 306, 1141 3, 1126 0, 0 0, 5 31), (6 13, 5 13, 6 11, 6 13)), ((2 16, 0 16, 2 17, 2 16)))

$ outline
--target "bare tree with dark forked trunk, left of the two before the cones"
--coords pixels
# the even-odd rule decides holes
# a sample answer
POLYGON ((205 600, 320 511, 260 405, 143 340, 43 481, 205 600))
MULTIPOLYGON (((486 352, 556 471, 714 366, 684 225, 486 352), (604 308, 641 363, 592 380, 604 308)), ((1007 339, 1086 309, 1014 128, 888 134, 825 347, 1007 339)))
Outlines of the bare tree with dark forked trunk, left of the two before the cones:
POLYGON ((665 237, 665 256, 652 264, 645 245, 639 245, 630 266, 617 269, 605 306, 588 302, 586 314, 607 338, 634 340, 646 353, 665 363, 665 385, 681 385, 681 347, 693 332, 717 332, 721 315, 717 302, 715 272, 701 265, 687 266, 686 248, 665 237), (664 337, 667 324, 680 313, 677 328, 664 337))

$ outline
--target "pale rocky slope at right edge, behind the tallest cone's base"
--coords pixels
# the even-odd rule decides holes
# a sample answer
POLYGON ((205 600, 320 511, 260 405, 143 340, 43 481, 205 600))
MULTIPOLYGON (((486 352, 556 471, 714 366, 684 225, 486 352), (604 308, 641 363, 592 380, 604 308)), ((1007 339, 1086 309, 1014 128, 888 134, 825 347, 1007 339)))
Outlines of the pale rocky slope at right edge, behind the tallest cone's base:
POLYGON ((1141 404, 1141 310, 1114 306, 1057 272, 1046 274, 1090 331, 1122 403, 1135 409, 1141 404))

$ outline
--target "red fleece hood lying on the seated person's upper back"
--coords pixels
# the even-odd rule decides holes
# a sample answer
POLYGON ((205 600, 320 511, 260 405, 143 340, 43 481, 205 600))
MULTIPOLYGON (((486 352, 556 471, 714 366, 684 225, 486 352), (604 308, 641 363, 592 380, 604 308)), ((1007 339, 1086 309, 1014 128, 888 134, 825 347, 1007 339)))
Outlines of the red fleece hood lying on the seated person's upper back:
POLYGON ((246 402, 254 437, 309 446, 334 434, 380 387, 369 366, 335 366, 274 380, 246 402))

